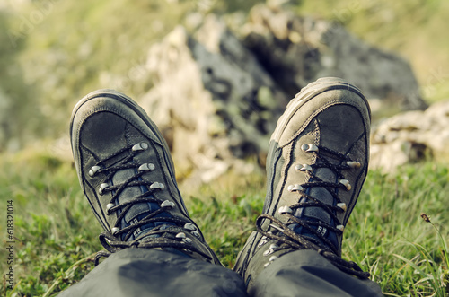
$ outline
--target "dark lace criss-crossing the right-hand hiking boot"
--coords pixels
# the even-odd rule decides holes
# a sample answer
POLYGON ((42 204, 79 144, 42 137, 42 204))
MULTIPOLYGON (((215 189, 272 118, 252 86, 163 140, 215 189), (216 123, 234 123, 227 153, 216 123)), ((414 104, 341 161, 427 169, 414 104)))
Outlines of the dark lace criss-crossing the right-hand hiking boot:
MULTIPOLYGON (((334 231, 338 235, 341 235, 344 230, 344 226, 339 222, 339 219, 336 215, 337 212, 345 212, 347 210, 347 205, 345 205, 338 195, 338 190, 350 190, 351 185, 348 180, 344 178, 341 171, 342 170, 350 170, 357 169, 360 167, 359 162, 349 161, 348 157, 342 153, 335 152, 330 150, 329 148, 318 146, 315 144, 303 144, 302 149, 307 153, 315 153, 317 162, 312 165, 303 164, 297 165, 296 170, 298 171, 307 171, 310 175, 310 179, 308 182, 303 184, 295 184, 288 186, 288 190, 291 192, 296 192, 298 195, 298 201, 300 201, 301 197, 306 198, 304 202, 296 203, 294 205, 285 205, 281 206, 278 209, 279 214, 285 215, 287 218, 286 223, 282 223, 279 219, 270 214, 261 214, 256 220, 257 230, 263 235, 260 245, 263 245, 271 240, 277 240, 280 243, 280 246, 277 244, 272 244, 270 248, 266 251, 264 256, 268 256, 275 249, 313 249, 316 250, 321 256, 327 258, 334 266, 337 266, 340 270, 348 273, 349 275, 355 275, 361 279, 366 279, 369 277, 369 273, 364 272, 355 262, 346 261, 340 258, 339 250, 335 245, 326 237, 321 234, 319 228, 327 228, 327 230, 334 231), (320 153, 319 153, 320 152, 320 153), (338 164, 330 162, 322 155, 331 156, 332 159, 339 160, 338 164), (320 160, 320 162, 318 162, 320 160), (314 169, 318 168, 328 168, 336 173, 338 177, 338 182, 329 182, 324 181, 313 174, 314 169), (306 193, 307 188, 326 188, 330 195, 337 202, 336 205, 327 205, 321 202, 316 197, 313 197, 306 193), (313 221, 308 220, 306 218, 298 218, 296 217, 295 210, 298 208, 305 207, 320 207, 326 213, 330 215, 335 223, 335 226, 331 226, 328 223, 324 223, 321 221, 313 221), (269 227, 267 230, 264 230, 262 224, 265 220, 269 220, 269 227), (302 226, 304 230, 309 231, 313 234, 311 236, 304 236, 296 233, 289 228, 292 224, 297 224, 302 226), (313 228, 312 226, 316 226, 313 228), (271 231, 269 231, 269 229, 271 231)), ((274 261, 277 257, 272 256, 269 258, 269 262, 266 264, 269 265, 270 262, 274 261)))

